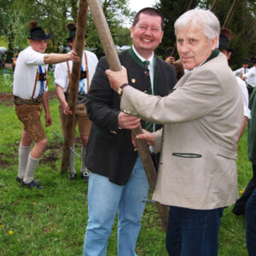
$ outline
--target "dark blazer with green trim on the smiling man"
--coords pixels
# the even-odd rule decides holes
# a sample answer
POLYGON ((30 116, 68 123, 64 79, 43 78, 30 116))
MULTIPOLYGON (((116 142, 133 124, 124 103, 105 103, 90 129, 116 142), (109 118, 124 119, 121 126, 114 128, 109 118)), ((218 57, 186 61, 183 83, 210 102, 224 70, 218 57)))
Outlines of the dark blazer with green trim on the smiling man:
MULTIPOLYGON (((166 96, 177 82, 176 73, 171 65, 158 57, 155 59, 156 95, 166 96)), ((129 50, 120 53, 119 60, 127 68, 129 84, 138 90, 148 90, 146 70, 131 57, 129 50)), ((93 122, 85 161, 90 172, 108 177, 112 183, 124 185, 138 154, 131 143, 131 131, 118 127, 120 97, 110 88, 105 74, 108 68, 106 57, 102 57, 85 102, 88 116, 93 122)))

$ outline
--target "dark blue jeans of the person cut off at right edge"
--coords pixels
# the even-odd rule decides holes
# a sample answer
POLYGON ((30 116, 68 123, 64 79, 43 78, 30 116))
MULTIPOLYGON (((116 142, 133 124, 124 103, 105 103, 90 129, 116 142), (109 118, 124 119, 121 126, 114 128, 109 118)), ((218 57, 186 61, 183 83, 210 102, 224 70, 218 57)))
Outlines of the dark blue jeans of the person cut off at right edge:
POLYGON ((256 189, 249 197, 246 209, 247 250, 250 256, 256 255, 256 189))

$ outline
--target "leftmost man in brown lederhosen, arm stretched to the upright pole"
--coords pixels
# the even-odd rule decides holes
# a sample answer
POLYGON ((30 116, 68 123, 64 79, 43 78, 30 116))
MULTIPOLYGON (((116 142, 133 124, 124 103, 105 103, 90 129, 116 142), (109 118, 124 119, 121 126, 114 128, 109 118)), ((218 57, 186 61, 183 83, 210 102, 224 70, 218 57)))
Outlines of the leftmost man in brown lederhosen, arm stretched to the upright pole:
POLYGON ((15 112, 23 124, 16 179, 24 187, 42 189, 39 182, 34 180, 34 172, 48 142, 40 120, 43 108, 45 125, 52 123, 49 114, 47 64, 79 61, 79 57, 75 52, 44 54, 51 35, 38 26, 38 21, 32 21, 30 26, 30 46, 20 52, 14 77, 15 112), (34 146, 30 151, 32 141, 34 146))

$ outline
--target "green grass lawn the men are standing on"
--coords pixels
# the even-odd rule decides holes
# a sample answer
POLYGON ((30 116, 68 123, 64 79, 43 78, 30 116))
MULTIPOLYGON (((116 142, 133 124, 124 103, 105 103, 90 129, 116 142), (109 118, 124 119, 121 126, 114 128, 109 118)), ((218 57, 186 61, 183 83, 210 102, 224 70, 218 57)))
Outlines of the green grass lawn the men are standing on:
MULTIPOLYGON (((1 76, 0 76, 1 77, 1 76)), ((45 189, 22 189, 15 181, 21 124, 12 102, 0 104, 0 255, 81 255, 87 221, 87 184, 70 181, 60 175, 61 134, 58 101, 50 100, 53 125, 46 128, 49 145, 35 172, 45 189)), ((44 115, 43 115, 44 122, 44 115)), ((77 138, 76 151, 80 151, 77 138)), ((76 158, 76 169, 80 161, 76 158)), ((247 131, 238 151, 239 190, 252 176, 247 160, 247 131)), ((166 256, 165 232, 160 228, 156 208, 148 204, 143 214, 143 228, 137 241, 140 256, 166 256)), ((108 256, 117 255, 117 223, 108 243, 108 256)), ((231 207, 224 211, 219 230, 220 256, 246 256, 245 218, 236 217, 231 207)))

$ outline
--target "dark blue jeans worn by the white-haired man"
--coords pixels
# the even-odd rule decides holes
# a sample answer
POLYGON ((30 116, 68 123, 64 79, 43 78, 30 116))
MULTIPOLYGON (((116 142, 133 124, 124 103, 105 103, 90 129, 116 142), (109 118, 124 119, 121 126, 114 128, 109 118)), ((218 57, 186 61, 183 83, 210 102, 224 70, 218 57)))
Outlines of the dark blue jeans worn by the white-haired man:
POLYGON ((172 256, 218 255, 218 228, 223 208, 192 210, 170 207, 166 249, 172 256))

